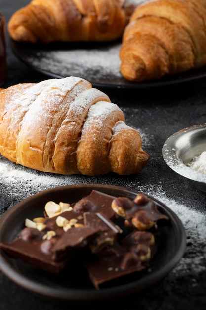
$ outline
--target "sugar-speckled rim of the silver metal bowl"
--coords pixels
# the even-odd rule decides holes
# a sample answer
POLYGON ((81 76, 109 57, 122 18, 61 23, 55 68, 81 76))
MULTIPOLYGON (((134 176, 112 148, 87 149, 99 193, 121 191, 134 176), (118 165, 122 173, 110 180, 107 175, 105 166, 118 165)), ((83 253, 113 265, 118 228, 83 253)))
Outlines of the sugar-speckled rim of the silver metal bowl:
POLYGON ((204 129, 206 131, 206 123, 180 129, 166 139, 162 148, 162 155, 165 160, 165 163, 173 171, 175 171, 176 173, 187 179, 193 180, 200 184, 206 183, 206 174, 193 170, 190 167, 187 167, 178 157, 177 155, 178 149, 175 146, 178 139, 180 139, 185 133, 204 129))

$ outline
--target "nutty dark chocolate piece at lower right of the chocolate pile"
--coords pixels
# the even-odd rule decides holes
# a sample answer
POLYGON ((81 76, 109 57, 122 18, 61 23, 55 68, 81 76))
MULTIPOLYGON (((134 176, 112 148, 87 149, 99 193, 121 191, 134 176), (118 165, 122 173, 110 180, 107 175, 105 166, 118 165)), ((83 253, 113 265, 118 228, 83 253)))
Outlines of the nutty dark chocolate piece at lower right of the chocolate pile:
POLYGON ((119 243, 105 248, 93 261, 85 263, 97 290, 105 284, 145 270, 159 245, 159 232, 133 230, 119 243))

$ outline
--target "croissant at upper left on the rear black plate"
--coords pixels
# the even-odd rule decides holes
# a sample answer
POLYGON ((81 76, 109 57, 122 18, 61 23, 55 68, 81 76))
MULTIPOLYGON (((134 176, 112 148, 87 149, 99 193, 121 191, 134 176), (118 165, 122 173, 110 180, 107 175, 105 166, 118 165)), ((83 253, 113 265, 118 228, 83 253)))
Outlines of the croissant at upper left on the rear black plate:
POLYGON ((135 0, 32 0, 16 11, 8 32, 16 41, 111 41, 122 37, 135 0))

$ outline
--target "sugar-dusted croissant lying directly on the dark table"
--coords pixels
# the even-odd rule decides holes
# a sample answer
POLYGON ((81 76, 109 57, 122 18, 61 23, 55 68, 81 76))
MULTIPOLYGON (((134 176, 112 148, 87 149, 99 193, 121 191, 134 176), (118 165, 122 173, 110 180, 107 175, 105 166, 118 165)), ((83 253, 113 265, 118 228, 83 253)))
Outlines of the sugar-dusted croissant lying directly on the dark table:
POLYGON ((20 165, 58 174, 141 171, 149 160, 123 111, 79 77, 0 90, 0 153, 20 165))

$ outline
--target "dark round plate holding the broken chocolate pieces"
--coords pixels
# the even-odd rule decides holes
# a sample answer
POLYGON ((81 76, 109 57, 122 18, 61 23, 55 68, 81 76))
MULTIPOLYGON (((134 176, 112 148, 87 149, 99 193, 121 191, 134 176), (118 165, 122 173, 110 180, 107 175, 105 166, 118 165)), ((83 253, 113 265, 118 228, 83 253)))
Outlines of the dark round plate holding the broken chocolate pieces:
MULTIPOLYGON (((123 187, 86 184, 69 185, 49 189, 19 202, 0 219, 0 241, 11 241, 24 227, 25 218, 42 216, 44 205, 52 200, 56 203, 75 202, 98 190, 113 196, 134 198, 138 192, 123 187)), ((48 275, 22 261, 0 253, 0 268, 12 281, 41 298, 61 302, 90 302, 124 297, 148 289, 159 282, 177 264, 185 251, 185 231, 179 218, 161 202, 154 200, 158 209, 170 218, 169 224, 160 228, 161 243, 153 258, 150 270, 142 276, 116 286, 95 290, 83 270, 65 270, 61 275, 48 275), (67 273, 68 272, 68 273, 67 273)))

